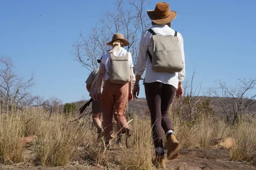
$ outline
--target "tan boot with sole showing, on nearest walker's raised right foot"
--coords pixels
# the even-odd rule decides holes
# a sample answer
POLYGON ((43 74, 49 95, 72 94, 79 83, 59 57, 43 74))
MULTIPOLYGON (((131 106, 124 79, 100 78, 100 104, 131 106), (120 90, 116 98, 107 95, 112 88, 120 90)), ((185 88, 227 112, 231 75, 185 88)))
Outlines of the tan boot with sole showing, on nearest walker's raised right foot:
POLYGON ((167 159, 172 160, 178 157, 180 144, 176 137, 172 134, 167 138, 167 159))

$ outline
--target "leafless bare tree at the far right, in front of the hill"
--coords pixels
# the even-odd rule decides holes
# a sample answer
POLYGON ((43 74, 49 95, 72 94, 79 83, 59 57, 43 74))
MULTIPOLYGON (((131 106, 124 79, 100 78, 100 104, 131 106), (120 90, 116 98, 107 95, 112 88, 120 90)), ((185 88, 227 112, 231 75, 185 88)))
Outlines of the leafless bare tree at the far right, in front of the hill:
POLYGON ((229 87, 225 82, 218 80, 219 87, 210 88, 209 94, 217 98, 222 107, 227 122, 236 123, 244 111, 255 107, 256 103, 256 79, 238 79, 234 87, 229 87), (252 93, 248 96, 248 93, 252 93))

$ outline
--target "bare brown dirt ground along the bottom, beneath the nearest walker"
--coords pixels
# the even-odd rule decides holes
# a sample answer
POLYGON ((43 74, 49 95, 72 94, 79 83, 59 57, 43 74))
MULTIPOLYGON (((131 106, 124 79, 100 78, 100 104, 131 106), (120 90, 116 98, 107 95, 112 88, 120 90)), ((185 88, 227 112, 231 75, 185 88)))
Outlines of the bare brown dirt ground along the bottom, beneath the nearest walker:
MULTIPOLYGON (((153 151, 153 149, 152 149, 153 151)), ((122 150, 115 152, 124 152, 122 150)), ((177 159, 166 160, 168 170, 253 170, 255 167, 239 162, 229 161, 228 151, 219 150, 215 160, 217 150, 181 149, 177 159)), ((166 152, 167 153, 167 152, 166 152)), ((153 152, 152 152, 153 156, 153 152)), ((20 170, 98 170, 96 167, 72 166, 72 167, 29 167, 14 168, 0 166, 0 169, 20 169, 20 170)))

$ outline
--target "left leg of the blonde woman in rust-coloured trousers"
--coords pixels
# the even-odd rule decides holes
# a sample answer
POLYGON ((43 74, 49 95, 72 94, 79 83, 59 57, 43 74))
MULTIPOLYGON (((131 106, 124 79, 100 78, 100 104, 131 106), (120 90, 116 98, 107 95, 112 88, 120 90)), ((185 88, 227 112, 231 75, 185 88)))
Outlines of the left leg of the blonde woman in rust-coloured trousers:
POLYGON ((109 81, 105 82, 102 95, 101 95, 101 110, 104 128, 105 143, 109 144, 109 140, 113 138, 113 108, 114 108, 114 97, 115 87, 109 81))

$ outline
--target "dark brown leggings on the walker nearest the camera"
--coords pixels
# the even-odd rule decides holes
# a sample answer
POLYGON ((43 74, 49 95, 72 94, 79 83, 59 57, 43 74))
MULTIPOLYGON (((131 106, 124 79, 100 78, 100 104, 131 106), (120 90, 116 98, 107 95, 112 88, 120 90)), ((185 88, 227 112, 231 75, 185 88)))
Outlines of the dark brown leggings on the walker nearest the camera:
POLYGON ((163 131, 173 130, 172 120, 168 115, 168 111, 176 88, 172 85, 161 82, 145 83, 145 94, 151 117, 152 137, 155 148, 163 148, 163 131))

